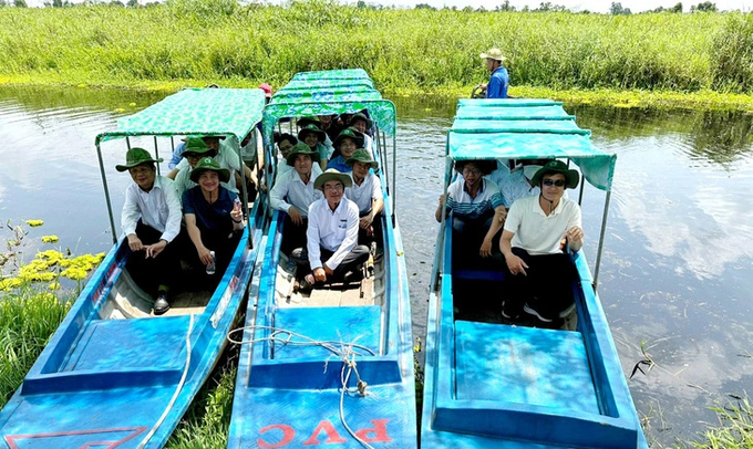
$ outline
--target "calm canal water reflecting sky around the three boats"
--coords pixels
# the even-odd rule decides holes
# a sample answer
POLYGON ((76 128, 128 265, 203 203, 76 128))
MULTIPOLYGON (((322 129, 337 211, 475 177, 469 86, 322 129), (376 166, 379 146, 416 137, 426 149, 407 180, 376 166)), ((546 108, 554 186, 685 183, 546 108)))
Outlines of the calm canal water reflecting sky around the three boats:
MULTIPOLYGON (((97 133, 163 95, 92 88, 0 88, 0 223, 42 219, 27 257, 56 234, 74 253, 112 244, 94 149, 97 133)), ((445 130, 452 101, 395 97, 398 216, 411 279, 413 328, 425 333, 445 130)), ((618 155, 599 295, 647 438, 698 438, 709 407, 753 386, 753 116, 731 112, 567 106, 594 143, 618 155), (650 357, 644 374, 635 366, 650 357)), ((149 148, 153 142, 147 142, 149 148)), ((169 142, 159 140, 163 155, 169 142)), ((113 208, 123 148, 103 147, 113 208)), ((166 169, 166 166, 165 166, 166 169)), ((605 195, 584 195, 591 265, 605 195)), ((116 215, 120 216, 118 212, 116 215)), ((7 229, 6 229, 7 231, 7 229)), ((0 234, 2 230, 0 230, 0 234)))

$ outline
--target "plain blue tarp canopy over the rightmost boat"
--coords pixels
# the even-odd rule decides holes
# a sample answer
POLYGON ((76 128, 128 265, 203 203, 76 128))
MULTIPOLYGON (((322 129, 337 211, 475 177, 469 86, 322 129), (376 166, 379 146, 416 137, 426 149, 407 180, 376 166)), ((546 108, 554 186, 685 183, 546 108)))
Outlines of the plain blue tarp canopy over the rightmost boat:
POLYGON ((561 104, 551 102, 549 106, 527 106, 514 102, 506 105, 504 101, 495 100, 495 105, 476 107, 473 102, 476 101, 463 102, 457 112, 465 111, 467 114, 462 119, 456 117, 447 130, 446 150, 453 160, 567 158, 578 165, 592 186, 601 190, 611 189, 617 156, 596 148, 589 130, 580 129, 570 119, 530 119, 536 115, 550 116, 547 108, 564 111, 561 104), (474 117, 473 113, 477 116, 474 117), (507 119, 485 118, 488 115, 507 119))

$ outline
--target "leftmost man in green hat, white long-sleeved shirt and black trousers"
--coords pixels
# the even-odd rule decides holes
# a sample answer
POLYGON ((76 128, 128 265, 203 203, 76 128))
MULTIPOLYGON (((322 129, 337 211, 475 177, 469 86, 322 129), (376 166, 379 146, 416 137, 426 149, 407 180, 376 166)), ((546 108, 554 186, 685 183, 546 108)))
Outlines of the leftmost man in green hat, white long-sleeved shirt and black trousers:
POLYGON ((169 290, 180 271, 176 248, 180 232, 180 200, 172 179, 157 176, 153 159, 143 148, 131 148, 117 171, 128 170, 133 184, 125 189, 121 216, 123 233, 133 254, 126 269, 136 284, 156 293, 154 314, 169 310, 169 290))

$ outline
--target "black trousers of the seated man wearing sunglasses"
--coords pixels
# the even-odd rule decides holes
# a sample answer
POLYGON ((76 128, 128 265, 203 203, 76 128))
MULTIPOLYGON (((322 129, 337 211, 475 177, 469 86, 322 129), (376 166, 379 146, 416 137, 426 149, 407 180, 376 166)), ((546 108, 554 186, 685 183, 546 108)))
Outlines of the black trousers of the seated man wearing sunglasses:
POLYGON ((517 315, 528 304, 543 316, 557 319, 573 305, 573 283, 578 279, 578 270, 569 254, 530 255, 522 248, 513 248, 513 253, 528 268, 526 275, 513 274, 504 264, 504 299, 508 314, 517 315))

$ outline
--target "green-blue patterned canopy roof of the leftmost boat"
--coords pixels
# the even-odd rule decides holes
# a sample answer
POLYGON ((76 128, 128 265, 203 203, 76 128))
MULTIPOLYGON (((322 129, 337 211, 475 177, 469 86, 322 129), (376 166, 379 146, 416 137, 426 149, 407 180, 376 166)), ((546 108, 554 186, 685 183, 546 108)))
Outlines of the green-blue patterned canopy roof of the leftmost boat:
POLYGON ((265 92, 260 88, 186 88, 136 114, 117 121, 117 130, 96 136, 101 142, 126 136, 234 135, 240 142, 261 122, 265 92))

